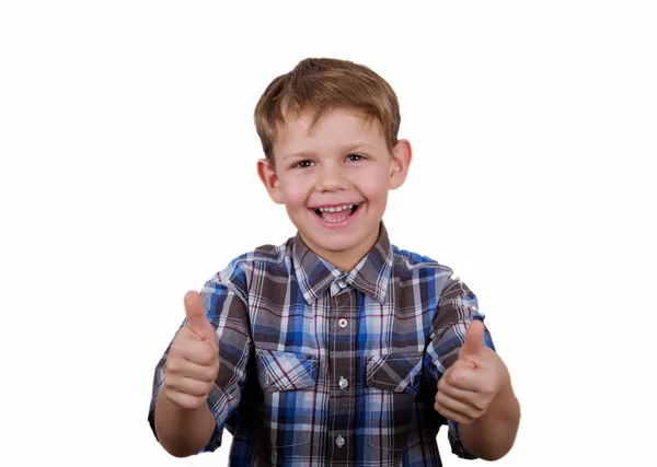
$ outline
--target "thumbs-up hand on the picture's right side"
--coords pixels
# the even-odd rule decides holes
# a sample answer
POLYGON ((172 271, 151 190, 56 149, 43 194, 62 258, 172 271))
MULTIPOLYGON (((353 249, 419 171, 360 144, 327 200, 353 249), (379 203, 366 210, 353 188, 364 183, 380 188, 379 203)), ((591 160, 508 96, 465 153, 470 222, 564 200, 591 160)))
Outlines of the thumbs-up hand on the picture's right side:
POLYGON ((472 423, 486 412, 505 378, 502 359, 484 343, 484 324, 473 320, 459 359, 438 382, 434 408, 449 420, 472 423))

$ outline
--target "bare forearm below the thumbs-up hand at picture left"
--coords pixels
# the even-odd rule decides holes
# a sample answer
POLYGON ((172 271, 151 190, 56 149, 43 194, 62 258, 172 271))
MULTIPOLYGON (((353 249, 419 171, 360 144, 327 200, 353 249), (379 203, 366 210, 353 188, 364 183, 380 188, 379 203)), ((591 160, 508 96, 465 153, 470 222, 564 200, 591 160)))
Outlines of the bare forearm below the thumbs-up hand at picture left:
POLYGON ((186 457, 203 450, 217 422, 207 404, 196 410, 172 404, 163 394, 155 402, 155 433, 162 447, 176 457, 186 457))

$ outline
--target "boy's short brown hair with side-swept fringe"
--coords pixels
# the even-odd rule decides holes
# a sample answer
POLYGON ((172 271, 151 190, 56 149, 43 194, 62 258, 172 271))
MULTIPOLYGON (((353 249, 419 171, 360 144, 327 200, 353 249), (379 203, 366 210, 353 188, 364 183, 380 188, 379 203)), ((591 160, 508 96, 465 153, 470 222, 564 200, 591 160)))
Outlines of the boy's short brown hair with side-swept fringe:
POLYGON ((265 156, 274 162, 276 126, 289 115, 314 110, 312 125, 326 110, 356 108, 377 120, 390 150, 397 142, 401 116, 392 86, 368 67, 332 58, 307 58, 274 79, 255 106, 255 129, 265 156))

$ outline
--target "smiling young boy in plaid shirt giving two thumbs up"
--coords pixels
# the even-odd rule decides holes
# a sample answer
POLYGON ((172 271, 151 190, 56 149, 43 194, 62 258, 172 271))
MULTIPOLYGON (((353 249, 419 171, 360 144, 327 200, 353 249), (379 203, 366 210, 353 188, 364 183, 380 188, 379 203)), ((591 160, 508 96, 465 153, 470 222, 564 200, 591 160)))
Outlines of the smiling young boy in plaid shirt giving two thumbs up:
POLYGON ((232 466, 440 466, 497 459, 520 412, 474 294, 390 243, 404 183, 395 93, 360 65, 306 59, 255 108, 257 172, 298 229, 230 262, 155 370, 149 422, 174 456, 233 435, 232 466))

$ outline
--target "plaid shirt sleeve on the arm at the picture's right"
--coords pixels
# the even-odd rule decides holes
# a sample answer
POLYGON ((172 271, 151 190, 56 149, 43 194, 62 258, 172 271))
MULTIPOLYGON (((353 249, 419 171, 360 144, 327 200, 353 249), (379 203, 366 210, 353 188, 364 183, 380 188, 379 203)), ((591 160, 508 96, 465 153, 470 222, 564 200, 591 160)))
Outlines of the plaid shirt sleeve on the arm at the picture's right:
MULTIPOLYGON (((465 329, 474 319, 484 320, 480 313, 476 296, 459 279, 450 279, 438 301, 437 313, 431 325, 430 341, 425 355, 427 380, 437 385, 459 358, 459 351, 465 342, 465 329)), ((495 350, 488 329, 485 329, 484 341, 495 350)), ((436 386, 434 386, 436 387, 436 386)), ((459 436, 458 423, 448 420, 448 439, 452 453, 465 459, 474 459, 459 436)))

